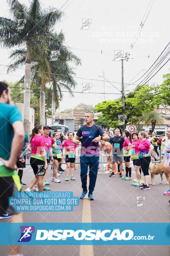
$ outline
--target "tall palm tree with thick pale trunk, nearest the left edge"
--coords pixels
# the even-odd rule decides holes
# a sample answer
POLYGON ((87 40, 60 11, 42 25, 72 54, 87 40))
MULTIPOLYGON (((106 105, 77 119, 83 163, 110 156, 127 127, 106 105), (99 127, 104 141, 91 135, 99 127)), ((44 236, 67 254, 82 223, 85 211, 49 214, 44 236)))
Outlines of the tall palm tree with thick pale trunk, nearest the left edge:
MULTIPOLYGON (((29 108, 30 108, 30 83, 31 83, 31 58, 36 54, 39 43, 43 48, 43 39, 50 33, 58 20, 62 17, 62 12, 57 9, 50 9, 48 12, 40 6, 39 0, 31 0, 27 7, 18 0, 8 0, 13 19, 0 17, 0 42, 3 47, 26 47, 25 55, 25 76, 24 84, 26 93, 24 93, 24 125, 25 131, 29 134, 29 108), (22 21, 20 23, 20 21, 22 21), (20 26, 21 25, 21 26, 20 26)), ((42 49, 41 48, 41 49, 42 49)), ((46 53, 47 53, 47 49, 46 53)), ((40 51, 39 51, 40 52, 40 51)), ((44 59, 45 69, 49 71, 49 65, 44 59)), ((18 62, 18 65, 20 63, 18 62)), ((42 83, 45 79, 42 76, 42 83)))

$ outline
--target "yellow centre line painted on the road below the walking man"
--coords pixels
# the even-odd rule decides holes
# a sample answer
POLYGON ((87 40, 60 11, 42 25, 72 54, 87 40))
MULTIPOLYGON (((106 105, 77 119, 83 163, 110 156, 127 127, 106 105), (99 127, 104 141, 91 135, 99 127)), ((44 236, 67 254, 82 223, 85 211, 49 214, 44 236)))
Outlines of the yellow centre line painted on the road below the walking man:
MULTIPOLYGON (((89 176, 87 185, 89 186, 89 176)), ((87 195, 83 199, 82 207, 82 223, 85 222, 91 223, 91 201, 88 200, 87 195)), ((93 245, 80 245, 79 256, 94 256, 93 245)))

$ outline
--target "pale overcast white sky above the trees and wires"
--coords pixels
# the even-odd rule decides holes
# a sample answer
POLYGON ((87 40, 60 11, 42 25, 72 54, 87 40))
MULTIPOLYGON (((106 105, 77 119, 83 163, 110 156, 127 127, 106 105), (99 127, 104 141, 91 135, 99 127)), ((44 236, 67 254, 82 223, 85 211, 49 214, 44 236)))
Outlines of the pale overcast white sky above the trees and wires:
MULTIPOLYGON (((6 0, 0 3, 0 16, 11 17, 6 0)), ((20 3, 29 5, 28 0, 20 0, 20 3)), ((170 41, 169 0, 41 0, 40 3, 44 8, 51 6, 65 13, 55 30, 64 32, 65 45, 82 61, 81 66, 75 67, 75 91, 79 93, 74 93, 74 98, 63 93, 57 112, 82 102, 96 105, 121 96, 122 64, 115 61, 116 52, 130 54, 128 61, 123 61, 124 83, 125 93, 132 91, 138 82, 130 83, 150 68, 170 41), (144 23, 142 28, 141 22, 144 23)), ((0 49, 0 80, 17 81, 24 70, 7 75, 7 67, 2 66, 10 64, 9 54, 10 49, 0 49)), ((163 74, 169 73, 169 69, 170 61, 149 83, 161 84, 163 74)))

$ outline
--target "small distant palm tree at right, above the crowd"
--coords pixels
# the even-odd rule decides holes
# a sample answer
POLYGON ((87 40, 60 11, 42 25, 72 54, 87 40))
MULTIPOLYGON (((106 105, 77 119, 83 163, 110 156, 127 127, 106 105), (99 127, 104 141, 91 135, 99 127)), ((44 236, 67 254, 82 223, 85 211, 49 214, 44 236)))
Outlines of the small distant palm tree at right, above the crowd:
POLYGON ((155 125, 158 125, 158 126, 164 125, 163 117, 164 116, 161 113, 157 113, 156 111, 144 113, 143 115, 144 125, 149 126, 151 124, 152 126, 151 133, 153 133, 155 129, 155 125))

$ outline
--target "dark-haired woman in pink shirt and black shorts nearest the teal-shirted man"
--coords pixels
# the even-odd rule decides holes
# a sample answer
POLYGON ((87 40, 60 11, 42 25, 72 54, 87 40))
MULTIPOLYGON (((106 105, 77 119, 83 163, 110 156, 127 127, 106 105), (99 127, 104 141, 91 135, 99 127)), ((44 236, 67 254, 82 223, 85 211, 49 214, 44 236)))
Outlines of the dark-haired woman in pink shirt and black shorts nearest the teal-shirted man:
POLYGON ((45 140, 42 137, 43 128, 41 125, 35 125, 31 134, 31 158, 30 165, 33 169, 35 177, 31 180, 30 185, 25 190, 30 192, 32 187, 37 183, 38 191, 42 192, 44 185, 44 175, 47 169, 47 155, 45 151, 45 140))

